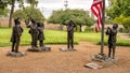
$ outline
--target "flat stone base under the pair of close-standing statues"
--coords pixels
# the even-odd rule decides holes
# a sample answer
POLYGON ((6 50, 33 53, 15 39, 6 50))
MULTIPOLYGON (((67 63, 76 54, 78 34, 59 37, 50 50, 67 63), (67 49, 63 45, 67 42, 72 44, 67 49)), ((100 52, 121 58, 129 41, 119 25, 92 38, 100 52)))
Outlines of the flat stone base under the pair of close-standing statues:
POLYGON ((27 52, 51 52, 50 46, 28 48, 27 52))

